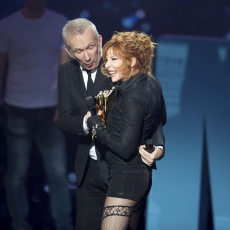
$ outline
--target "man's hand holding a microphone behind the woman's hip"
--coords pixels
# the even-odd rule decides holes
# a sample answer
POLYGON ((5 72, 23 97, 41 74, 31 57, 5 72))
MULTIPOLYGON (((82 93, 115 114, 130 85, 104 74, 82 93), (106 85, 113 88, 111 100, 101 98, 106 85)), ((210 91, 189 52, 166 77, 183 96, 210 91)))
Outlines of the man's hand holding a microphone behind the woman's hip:
POLYGON ((142 161, 148 165, 152 166, 157 160, 160 160, 164 156, 163 149, 160 149, 155 146, 155 150, 151 153, 145 150, 145 145, 141 145, 138 147, 139 153, 141 154, 142 161))

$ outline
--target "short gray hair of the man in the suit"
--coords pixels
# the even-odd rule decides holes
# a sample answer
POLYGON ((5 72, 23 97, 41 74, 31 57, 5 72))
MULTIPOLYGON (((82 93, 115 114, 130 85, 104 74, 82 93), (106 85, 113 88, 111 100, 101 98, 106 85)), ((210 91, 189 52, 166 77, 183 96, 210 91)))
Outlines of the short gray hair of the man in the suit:
POLYGON ((99 34, 98 34, 96 26, 88 19, 76 18, 66 23, 66 25, 62 29, 62 37, 63 37, 64 43, 67 49, 70 48, 67 44, 67 36, 83 34, 87 28, 90 28, 94 32, 96 38, 98 38, 99 34))

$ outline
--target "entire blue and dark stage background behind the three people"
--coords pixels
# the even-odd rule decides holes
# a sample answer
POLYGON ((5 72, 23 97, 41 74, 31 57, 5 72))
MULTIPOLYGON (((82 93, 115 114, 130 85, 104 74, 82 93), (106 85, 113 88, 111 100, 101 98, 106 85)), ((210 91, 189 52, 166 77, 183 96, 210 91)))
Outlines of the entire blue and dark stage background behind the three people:
MULTIPOLYGON (((18 10, 24 1, 0 0, 0 19, 18 10)), ((154 72, 162 83, 168 123, 164 127, 166 156, 153 172, 147 203, 148 230, 211 230, 199 228, 200 207, 207 197, 202 172, 210 178, 210 208, 216 230, 230 229, 230 1, 229 0, 48 0, 47 6, 68 19, 94 22, 103 41, 114 31, 139 30, 156 39, 154 72), (167 35, 167 36, 166 36, 167 35), (207 162, 202 164, 204 123, 207 162), (203 195, 202 195, 203 194, 203 195)), ((75 206, 73 162, 76 138, 67 138, 69 188, 75 206)), ((8 229, 5 204, 6 152, 0 145, 0 226, 8 229), (1 225, 2 223, 2 225, 1 225)), ((207 177, 206 177, 207 178, 207 177)), ((32 152, 28 190, 30 222, 53 229, 48 211, 48 189, 39 153, 32 152)), ((207 202, 206 202, 207 204, 207 202)), ((210 209, 209 208, 209 209, 210 209)), ((2 229, 0 227, 0 229, 2 229)))

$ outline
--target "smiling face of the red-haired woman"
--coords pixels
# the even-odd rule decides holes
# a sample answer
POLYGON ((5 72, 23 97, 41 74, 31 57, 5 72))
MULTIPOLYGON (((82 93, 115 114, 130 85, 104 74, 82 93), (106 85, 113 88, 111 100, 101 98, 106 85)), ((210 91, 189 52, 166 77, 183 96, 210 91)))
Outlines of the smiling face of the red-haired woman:
POLYGON ((112 82, 125 81, 128 79, 128 76, 125 76, 121 68, 119 68, 122 64, 123 61, 113 54, 113 48, 109 48, 106 55, 105 68, 108 70, 112 82))

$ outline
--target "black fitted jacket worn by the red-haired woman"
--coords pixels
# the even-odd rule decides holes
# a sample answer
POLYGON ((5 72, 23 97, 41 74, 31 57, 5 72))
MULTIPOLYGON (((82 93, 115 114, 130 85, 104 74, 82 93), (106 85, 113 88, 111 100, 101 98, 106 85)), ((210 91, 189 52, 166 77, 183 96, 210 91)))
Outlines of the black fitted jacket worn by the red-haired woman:
POLYGON ((107 118, 107 127, 97 137, 109 148, 110 164, 143 164, 137 146, 153 136, 159 123, 166 123, 162 89, 153 77, 137 74, 117 84, 116 101, 107 118))

